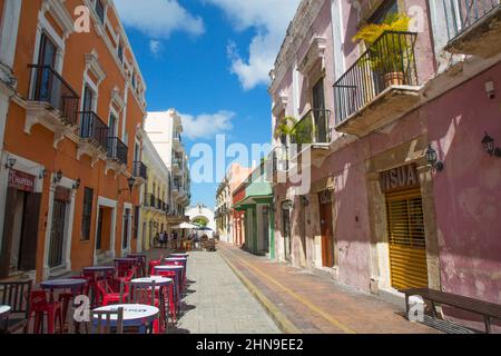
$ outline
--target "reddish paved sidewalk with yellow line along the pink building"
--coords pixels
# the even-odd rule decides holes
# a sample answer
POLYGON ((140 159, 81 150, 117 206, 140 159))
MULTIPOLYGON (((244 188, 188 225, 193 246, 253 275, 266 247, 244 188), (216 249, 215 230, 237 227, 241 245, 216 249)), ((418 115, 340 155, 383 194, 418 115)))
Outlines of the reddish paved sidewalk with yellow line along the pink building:
POLYGON ((410 323, 399 306, 219 243, 218 254, 287 333, 439 333, 410 323))

